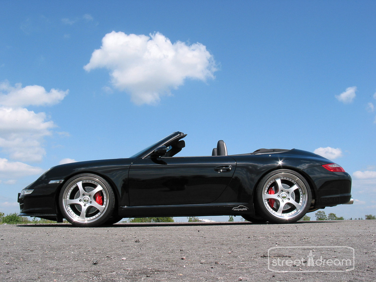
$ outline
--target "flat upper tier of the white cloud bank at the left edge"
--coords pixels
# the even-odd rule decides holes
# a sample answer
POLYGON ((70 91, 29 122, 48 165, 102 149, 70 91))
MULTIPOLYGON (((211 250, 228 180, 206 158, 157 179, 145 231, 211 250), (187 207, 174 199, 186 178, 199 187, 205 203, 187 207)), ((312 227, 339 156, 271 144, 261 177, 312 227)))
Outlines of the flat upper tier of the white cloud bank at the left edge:
POLYGON ((67 91, 51 89, 45 91, 39 85, 22 87, 21 83, 11 86, 9 82, 0 83, 0 105, 8 107, 48 106, 59 103, 68 94, 67 91))

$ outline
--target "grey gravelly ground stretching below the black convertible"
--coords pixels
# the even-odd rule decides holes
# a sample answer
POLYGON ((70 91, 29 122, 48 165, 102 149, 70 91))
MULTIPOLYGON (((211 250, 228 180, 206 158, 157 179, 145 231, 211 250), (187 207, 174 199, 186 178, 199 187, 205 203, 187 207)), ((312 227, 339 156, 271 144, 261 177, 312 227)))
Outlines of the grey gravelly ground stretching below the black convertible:
MULTIPOLYGON (((375 220, 0 225, 0 280, 368 282, 376 276, 375 234, 375 220), (355 269, 273 272, 268 249, 276 246, 351 247, 355 269)), ((299 267, 284 268, 291 269, 299 267)))

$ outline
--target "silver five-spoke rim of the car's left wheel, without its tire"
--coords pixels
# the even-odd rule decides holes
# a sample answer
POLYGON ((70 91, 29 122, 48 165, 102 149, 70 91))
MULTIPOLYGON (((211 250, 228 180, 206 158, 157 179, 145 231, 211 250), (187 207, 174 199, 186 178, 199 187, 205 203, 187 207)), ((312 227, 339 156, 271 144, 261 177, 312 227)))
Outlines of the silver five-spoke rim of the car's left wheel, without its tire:
POLYGON ((90 224, 106 213, 109 191, 105 183, 92 176, 81 176, 65 186, 62 208, 68 221, 90 224))

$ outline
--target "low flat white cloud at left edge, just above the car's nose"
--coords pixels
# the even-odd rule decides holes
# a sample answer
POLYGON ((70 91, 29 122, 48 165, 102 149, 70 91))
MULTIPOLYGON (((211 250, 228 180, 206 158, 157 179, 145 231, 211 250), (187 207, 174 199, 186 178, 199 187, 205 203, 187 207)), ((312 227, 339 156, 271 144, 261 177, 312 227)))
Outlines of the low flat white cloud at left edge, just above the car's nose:
POLYGON ((32 167, 23 162, 10 162, 8 159, 0 158, 0 177, 6 179, 15 179, 29 175, 41 174, 43 169, 32 167))

